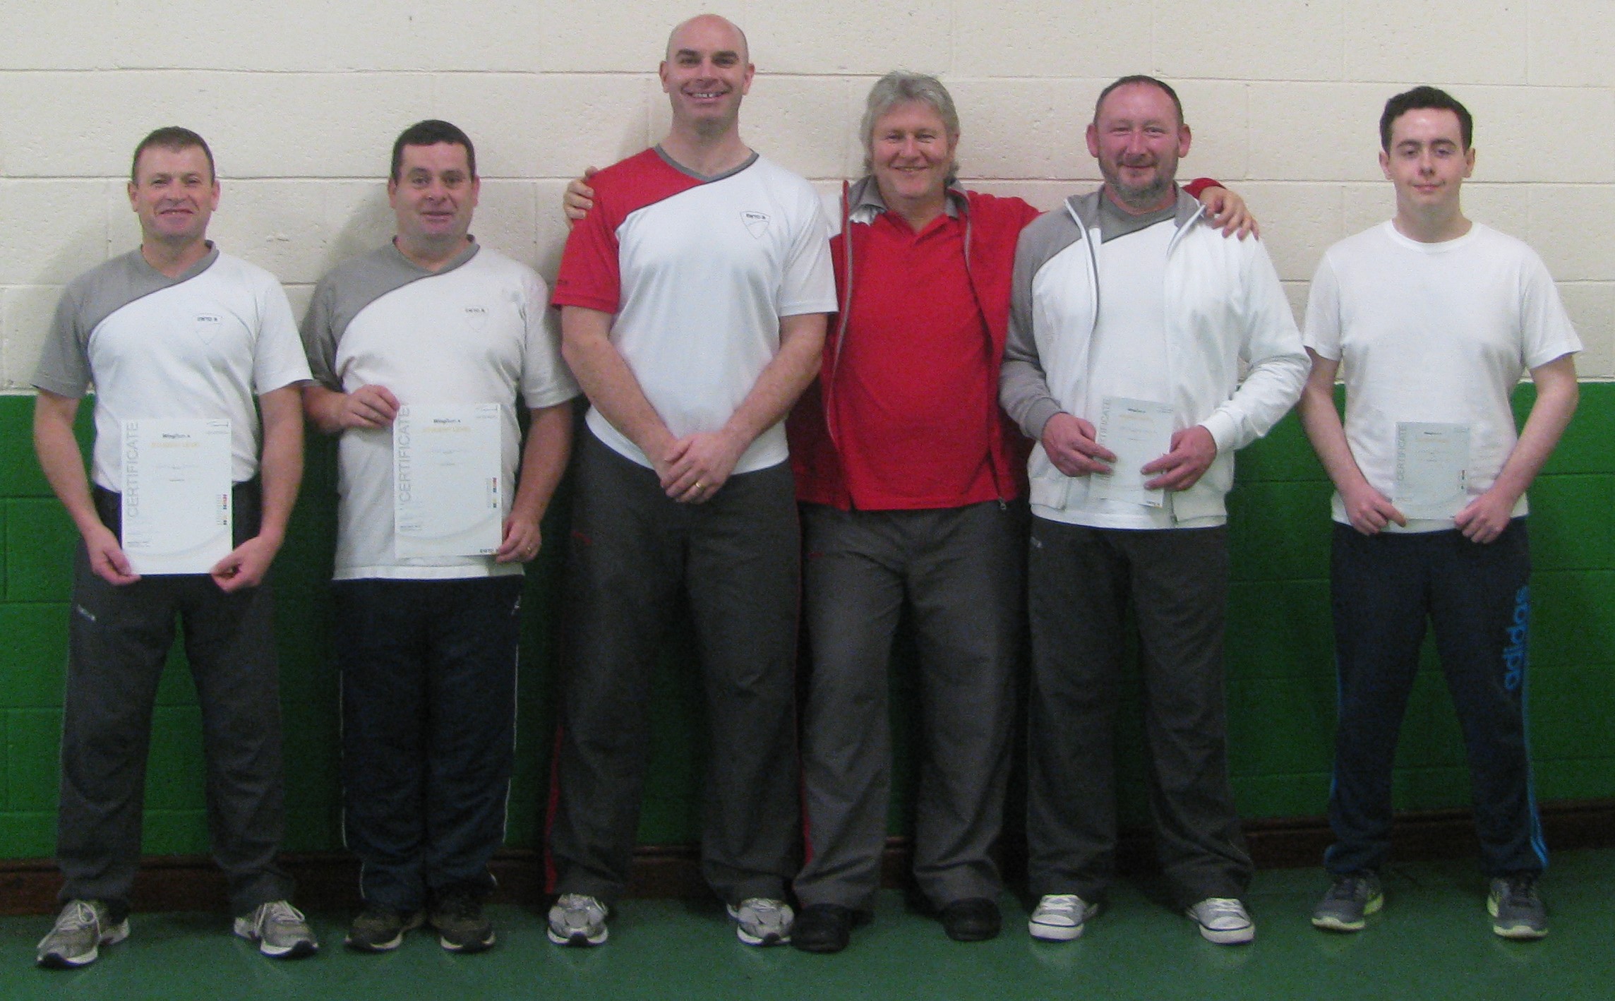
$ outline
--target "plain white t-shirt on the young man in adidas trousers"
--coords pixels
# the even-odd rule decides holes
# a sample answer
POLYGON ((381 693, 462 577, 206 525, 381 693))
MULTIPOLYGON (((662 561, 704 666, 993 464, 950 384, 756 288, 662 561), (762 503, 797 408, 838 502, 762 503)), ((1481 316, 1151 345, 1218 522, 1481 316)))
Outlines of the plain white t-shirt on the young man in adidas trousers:
MULTIPOLYGON (((1542 260, 1479 223, 1439 244, 1382 223, 1331 247, 1313 276, 1305 344, 1342 363, 1345 441, 1386 497, 1395 486, 1399 421, 1468 425, 1468 494, 1486 492, 1518 439, 1508 407, 1515 384, 1581 350, 1542 260)), ((1521 496, 1513 513, 1526 510, 1521 496)), ((1349 523, 1339 492, 1334 520, 1349 523)), ((1450 518, 1386 531, 1447 528, 1450 518)))

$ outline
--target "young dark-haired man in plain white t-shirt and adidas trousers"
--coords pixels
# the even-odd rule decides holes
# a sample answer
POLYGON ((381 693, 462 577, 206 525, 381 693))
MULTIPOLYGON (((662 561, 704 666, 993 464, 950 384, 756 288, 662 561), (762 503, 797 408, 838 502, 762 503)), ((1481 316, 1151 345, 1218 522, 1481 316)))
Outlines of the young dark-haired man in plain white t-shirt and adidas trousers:
POLYGON ((1386 103, 1395 218, 1331 247, 1307 305, 1300 413, 1337 491, 1334 885, 1313 912, 1334 932, 1363 928, 1384 901, 1391 767, 1429 620, 1468 748, 1492 930, 1547 933, 1525 733, 1525 491, 1576 408, 1581 341, 1541 258, 1463 216, 1471 132, 1468 110, 1434 87, 1386 103), (1516 434, 1508 396, 1525 371, 1536 402, 1516 434))

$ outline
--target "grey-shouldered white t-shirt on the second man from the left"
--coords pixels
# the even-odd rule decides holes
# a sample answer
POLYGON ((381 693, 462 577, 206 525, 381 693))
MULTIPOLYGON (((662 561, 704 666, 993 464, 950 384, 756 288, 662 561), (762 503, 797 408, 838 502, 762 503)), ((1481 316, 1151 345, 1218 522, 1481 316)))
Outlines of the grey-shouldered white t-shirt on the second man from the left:
MULTIPOLYGON (((407 404, 499 404, 504 513, 522 450, 517 392, 536 410, 578 394, 546 323, 547 289, 526 265, 472 245, 426 271, 392 244, 321 279, 304 320, 315 376, 331 389, 386 386, 407 404)), ((522 573, 489 555, 399 557, 392 429, 349 428, 338 442, 334 580, 452 580, 522 573)))

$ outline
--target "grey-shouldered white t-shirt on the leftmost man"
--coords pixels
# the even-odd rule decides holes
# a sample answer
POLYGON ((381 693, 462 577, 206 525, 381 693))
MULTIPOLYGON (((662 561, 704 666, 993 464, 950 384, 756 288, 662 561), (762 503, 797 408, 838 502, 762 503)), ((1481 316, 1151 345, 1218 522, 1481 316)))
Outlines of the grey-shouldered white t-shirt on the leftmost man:
POLYGON ((123 421, 229 418, 231 478, 258 471, 255 397, 308 379, 286 292, 273 274, 210 247, 179 278, 139 250, 61 294, 34 384, 82 397, 95 384, 92 478, 123 489, 123 421))

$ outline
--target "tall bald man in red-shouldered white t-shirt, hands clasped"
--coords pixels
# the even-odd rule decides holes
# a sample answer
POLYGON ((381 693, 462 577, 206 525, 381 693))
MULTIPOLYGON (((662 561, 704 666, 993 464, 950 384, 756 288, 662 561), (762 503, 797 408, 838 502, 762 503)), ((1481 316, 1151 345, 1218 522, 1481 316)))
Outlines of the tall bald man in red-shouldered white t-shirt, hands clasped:
POLYGON ((549 938, 606 941, 640 819, 657 646, 688 602, 706 691, 703 872, 748 944, 790 940, 799 841, 799 544, 783 417, 835 310, 814 189, 740 136, 754 68, 712 15, 673 29, 672 128, 594 176, 556 279, 589 397, 549 848, 549 938))

